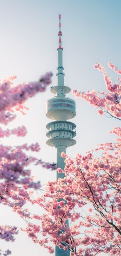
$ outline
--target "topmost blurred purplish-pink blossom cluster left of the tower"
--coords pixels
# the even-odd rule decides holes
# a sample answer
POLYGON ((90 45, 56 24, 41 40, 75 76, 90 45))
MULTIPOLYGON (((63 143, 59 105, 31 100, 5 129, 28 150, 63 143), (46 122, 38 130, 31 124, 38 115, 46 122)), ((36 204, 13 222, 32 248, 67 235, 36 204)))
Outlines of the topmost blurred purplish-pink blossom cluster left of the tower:
POLYGON ((15 78, 11 76, 0 81, 0 122, 3 124, 8 124, 15 118, 14 110, 25 114, 25 101, 38 92, 45 92, 47 85, 51 83, 52 73, 46 73, 37 82, 19 85, 13 85, 15 78))

